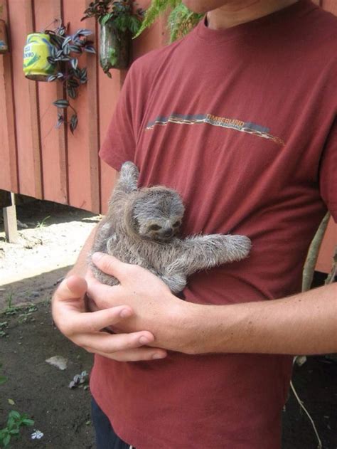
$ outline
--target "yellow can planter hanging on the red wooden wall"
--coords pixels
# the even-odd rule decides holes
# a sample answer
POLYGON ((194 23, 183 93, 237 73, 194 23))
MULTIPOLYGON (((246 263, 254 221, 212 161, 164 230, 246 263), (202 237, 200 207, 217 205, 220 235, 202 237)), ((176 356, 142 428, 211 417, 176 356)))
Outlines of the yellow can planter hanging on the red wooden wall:
POLYGON ((23 49, 23 73, 26 78, 35 81, 48 81, 48 77, 56 73, 56 65, 50 64, 53 45, 48 34, 28 34, 23 49))

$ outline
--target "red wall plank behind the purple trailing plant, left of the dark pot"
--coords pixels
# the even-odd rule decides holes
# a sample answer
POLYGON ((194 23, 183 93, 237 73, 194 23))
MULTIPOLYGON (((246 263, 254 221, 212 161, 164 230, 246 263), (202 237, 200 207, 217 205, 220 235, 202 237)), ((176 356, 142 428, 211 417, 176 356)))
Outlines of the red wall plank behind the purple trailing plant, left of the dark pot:
MULTIPOLYGON (((78 28, 90 28, 95 32, 95 26, 89 21, 81 22, 83 11, 87 7, 86 0, 65 1, 63 4, 64 21, 70 22, 69 33, 74 33, 78 28)), ((94 22, 95 23, 95 22, 94 22)), ((87 53, 80 56, 79 67, 88 67, 92 63, 89 59, 95 60, 95 55, 87 53)), ((90 66, 91 67, 91 66, 90 66)), ((94 69, 91 67, 91 75, 94 75, 94 69)), ((97 144, 95 144, 95 123, 97 123, 97 96, 89 97, 88 89, 91 94, 95 93, 95 75, 94 79, 88 80, 87 85, 81 85, 79 95, 71 104, 75 108, 78 117, 78 125, 74 135, 67 132, 68 142, 68 179, 69 179, 69 202, 72 206, 84 208, 89 211, 99 210, 99 176, 95 157, 97 157, 97 144), (90 124, 90 120, 92 123, 90 124), (95 148, 89 147, 89 136, 91 142, 94 142, 95 148), (95 152, 92 156, 90 152, 95 152), (91 167, 92 165, 92 167, 91 167)), ((71 115, 71 112, 70 112, 71 115)))

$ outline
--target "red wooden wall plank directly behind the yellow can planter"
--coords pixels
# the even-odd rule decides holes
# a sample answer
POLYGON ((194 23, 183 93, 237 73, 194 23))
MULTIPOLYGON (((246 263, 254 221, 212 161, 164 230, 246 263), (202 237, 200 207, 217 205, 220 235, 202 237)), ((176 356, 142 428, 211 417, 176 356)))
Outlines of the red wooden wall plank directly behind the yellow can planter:
MULTIPOLYGON (((61 0, 35 0, 36 31, 54 29, 62 18, 61 0)), ((43 197, 49 201, 68 202, 67 164, 65 152, 65 127, 55 129, 58 110, 53 101, 63 97, 59 81, 38 84, 40 110, 41 152, 43 169, 43 197)))

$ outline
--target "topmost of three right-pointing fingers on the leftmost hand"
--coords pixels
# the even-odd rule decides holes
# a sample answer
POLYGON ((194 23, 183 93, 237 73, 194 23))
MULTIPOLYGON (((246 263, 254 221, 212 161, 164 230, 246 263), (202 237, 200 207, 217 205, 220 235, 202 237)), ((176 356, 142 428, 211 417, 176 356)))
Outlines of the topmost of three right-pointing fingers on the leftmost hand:
POLYGON ((131 307, 126 305, 97 310, 97 312, 68 312, 62 322, 63 329, 60 330, 66 335, 95 333, 104 327, 117 324, 124 318, 131 317, 132 313, 131 307))

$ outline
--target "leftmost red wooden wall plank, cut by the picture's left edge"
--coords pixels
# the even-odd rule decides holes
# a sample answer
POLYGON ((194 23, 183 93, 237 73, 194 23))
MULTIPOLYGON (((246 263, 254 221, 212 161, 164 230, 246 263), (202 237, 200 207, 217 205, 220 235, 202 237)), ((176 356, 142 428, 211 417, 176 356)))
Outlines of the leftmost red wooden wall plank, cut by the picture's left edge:
MULTIPOLYGON (((11 30, 7 1, 0 0, 1 19, 6 22, 9 42, 11 30)), ((11 47, 9 48, 12 50, 11 47)), ((18 170, 16 154, 16 127, 14 120, 13 77, 11 53, 5 53, 0 58, 0 188, 8 191, 18 191, 18 170)))

